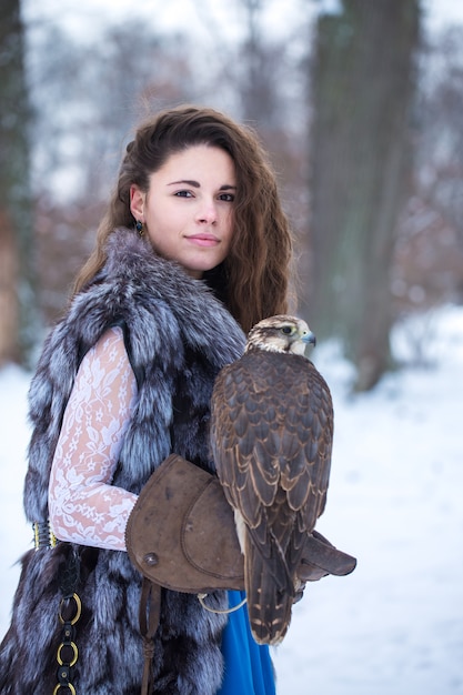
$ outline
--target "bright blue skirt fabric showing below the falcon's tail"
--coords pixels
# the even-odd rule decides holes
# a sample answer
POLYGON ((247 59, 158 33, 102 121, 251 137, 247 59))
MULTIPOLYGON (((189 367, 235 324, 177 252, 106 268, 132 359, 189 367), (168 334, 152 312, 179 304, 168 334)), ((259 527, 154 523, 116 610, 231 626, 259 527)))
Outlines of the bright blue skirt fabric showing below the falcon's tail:
MULTIPOLYGON (((244 598, 244 592, 229 592, 230 607, 244 598)), ((275 679, 270 651, 252 637, 244 604, 230 613, 223 631, 222 654, 225 672, 218 695, 275 695, 275 679)))

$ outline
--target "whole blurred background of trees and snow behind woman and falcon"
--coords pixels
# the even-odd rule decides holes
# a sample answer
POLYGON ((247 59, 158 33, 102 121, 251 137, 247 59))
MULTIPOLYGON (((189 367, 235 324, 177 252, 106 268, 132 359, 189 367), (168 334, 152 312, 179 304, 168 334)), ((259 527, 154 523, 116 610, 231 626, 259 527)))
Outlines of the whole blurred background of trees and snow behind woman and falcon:
POLYGON ((278 695, 463 695, 461 0, 1 0, 0 641, 31 370, 133 128, 184 102, 269 150, 334 401, 318 528, 359 564, 306 587, 278 695))

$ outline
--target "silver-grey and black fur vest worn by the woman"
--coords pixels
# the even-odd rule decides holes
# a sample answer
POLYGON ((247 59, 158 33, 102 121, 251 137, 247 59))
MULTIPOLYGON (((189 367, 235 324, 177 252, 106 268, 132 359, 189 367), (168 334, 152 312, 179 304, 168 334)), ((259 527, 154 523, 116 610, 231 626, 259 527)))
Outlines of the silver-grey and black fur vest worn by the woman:
MULTIPOLYGON (((129 230, 117 230, 108 261, 78 294, 48 336, 32 380, 33 425, 24 508, 31 522, 48 518, 48 483, 63 411, 79 364, 102 333, 123 330, 139 384, 113 484, 139 493, 172 452, 212 467, 209 402, 214 377, 243 350, 236 322, 201 281, 152 253, 129 230)), ((58 620, 69 556, 82 555, 82 615, 76 625, 78 695, 138 695, 143 669, 139 632, 141 577, 127 553, 69 543, 30 551, 0 648, 0 695, 51 695, 57 686, 58 620)), ((224 607, 227 595, 214 596, 224 607)), ((222 677, 225 618, 205 612, 195 596, 163 592, 153 659, 154 693, 213 695, 222 677)), ((59 688, 58 692, 61 692, 59 688)), ((63 692, 68 692, 64 689, 63 692)))

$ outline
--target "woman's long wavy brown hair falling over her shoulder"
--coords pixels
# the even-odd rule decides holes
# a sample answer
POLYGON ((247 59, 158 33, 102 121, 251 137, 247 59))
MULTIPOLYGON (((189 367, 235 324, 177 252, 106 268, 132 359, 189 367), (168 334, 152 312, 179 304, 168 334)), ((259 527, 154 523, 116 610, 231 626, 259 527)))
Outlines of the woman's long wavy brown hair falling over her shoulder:
POLYGON ((98 229, 95 249, 78 274, 74 293, 103 266, 109 235, 133 229, 130 187, 148 192, 150 174, 171 154, 189 147, 221 148, 236 172, 232 243, 223 268, 204 279, 223 299, 244 331, 272 314, 288 311, 292 239, 282 210, 275 174, 252 129, 209 108, 183 105, 160 112, 141 124, 127 147, 117 187, 98 229))

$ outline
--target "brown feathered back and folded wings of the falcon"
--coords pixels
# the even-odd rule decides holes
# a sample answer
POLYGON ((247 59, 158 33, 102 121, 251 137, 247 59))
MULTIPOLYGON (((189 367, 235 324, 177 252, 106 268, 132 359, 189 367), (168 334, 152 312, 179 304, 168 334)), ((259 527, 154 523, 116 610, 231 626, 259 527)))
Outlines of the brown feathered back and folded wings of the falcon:
POLYGON ((219 374, 211 417, 219 479, 260 542, 263 511, 283 492, 299 531, 312 531, 325 505, 333 436, 330 391, 313 364, 244 354, 219 374))

